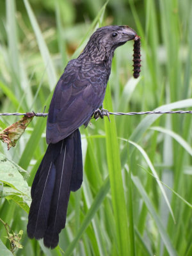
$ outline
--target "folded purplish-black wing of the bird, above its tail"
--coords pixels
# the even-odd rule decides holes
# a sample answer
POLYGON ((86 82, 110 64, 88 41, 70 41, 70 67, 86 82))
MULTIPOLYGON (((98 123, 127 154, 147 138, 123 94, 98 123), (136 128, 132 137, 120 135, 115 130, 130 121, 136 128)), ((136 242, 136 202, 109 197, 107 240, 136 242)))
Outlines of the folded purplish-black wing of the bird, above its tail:
POLYGON ((47 118, 47 143, 56 143, 90 120, 104 99, 104 67, 70 61, 60 77, 47 118), (97 70, 97 71, 96 71, 97 70))

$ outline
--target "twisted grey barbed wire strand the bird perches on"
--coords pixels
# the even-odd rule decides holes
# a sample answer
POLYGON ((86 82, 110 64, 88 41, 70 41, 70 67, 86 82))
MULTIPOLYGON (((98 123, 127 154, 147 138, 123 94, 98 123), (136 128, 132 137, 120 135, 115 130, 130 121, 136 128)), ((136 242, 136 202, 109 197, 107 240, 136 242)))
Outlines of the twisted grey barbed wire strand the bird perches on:
MULTIPOLYGON (((109 116, 109 115, 127 115, 127 116, 132 116, 132 115, 162 115, 162 114, 192 114, 192 110, 176 110, 176 111, 140 111, 140 112, 110 112, 106 109, 100 109, 100 113, 97 116, 94 116, 95 118, 98 118, 99 116, 109 116)), ((48 113, 35 113, 35 112, 29 112, 29 113, 0 113, 0 116, 40 116, 40 117, 46 117, 48 113)))

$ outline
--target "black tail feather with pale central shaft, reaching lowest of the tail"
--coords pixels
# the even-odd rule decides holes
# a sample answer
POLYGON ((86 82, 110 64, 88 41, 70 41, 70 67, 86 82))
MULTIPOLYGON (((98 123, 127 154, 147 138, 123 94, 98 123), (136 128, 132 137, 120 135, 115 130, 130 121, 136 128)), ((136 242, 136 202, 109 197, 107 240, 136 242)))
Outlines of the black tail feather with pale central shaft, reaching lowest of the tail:
POLYGON ((54 188, 47 230, 44 236, 44 244, 47 247, 54 248, 58 244, 58 234, 61 232, 61 229, 65 227, 70 196, 73 156, 74 143, 71 136, 65 140, 62 152, 56 161, 56 170, 60 170, 60 172, 56 173, 57 186, 54 188))

